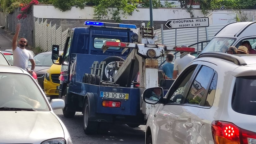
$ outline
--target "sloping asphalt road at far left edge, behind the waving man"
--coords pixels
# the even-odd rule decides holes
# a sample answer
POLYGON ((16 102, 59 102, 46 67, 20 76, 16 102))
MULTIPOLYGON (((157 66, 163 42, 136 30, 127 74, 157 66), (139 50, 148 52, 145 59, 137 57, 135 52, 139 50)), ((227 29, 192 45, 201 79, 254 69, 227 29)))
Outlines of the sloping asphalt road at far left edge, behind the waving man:
POLYGON ((0 28, 0 50, 11 49, 12 39, 2 28, 0 28))

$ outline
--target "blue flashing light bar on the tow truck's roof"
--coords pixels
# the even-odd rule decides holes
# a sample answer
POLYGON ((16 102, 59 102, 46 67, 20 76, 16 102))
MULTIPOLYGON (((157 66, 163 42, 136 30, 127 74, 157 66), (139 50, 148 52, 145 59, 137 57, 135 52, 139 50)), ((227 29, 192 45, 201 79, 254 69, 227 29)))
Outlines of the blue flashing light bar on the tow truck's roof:
POLYGON ((136 25, 123 24, 123 23, 111 23, 111 22, 99 22, 99 21, 85 21, 84 25, 88 25, 88 26, 104 26, 104 27, 122 27, 122 28, 134 28, 134 29, 137 29, 136 25))

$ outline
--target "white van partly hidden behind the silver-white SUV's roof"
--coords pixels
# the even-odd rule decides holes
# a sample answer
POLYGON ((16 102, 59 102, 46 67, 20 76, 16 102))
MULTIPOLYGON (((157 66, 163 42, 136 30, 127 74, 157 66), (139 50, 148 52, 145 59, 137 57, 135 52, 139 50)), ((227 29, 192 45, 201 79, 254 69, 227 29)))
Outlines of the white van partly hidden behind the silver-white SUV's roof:
MULTIPOLYGON (((211 41, 205 46, 201 53, 205 52, 227 52, 229 46, 238 48, 242 42, 248 40, 252 49, 256 47, 256 22, 235 22, 223 27, 211 41)), ((199 55, 198 55, 199 56, 199 55)))

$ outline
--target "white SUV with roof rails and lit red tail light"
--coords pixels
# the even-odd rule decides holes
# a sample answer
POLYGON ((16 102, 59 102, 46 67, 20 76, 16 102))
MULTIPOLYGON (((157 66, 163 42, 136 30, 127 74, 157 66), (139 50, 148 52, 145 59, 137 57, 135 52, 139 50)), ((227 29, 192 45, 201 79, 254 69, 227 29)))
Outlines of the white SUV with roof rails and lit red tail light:
POLYGON ((256 55, 201 53, 163 93, 143 92, 146 144, 256 143, 256 55))

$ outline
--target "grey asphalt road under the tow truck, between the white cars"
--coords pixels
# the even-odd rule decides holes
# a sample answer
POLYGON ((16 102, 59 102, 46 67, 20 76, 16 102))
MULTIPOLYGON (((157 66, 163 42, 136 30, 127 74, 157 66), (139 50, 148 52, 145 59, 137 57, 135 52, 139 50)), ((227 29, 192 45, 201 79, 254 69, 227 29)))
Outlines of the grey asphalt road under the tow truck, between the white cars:
POLYGON ((65 118, 62 110, 54 110, 67 127, 73 144, 144 144, 145 125, 130 128, 127 125, 112 125, 107 135, 85 135, 83 131, 82 113, 75 117, 65 118))

